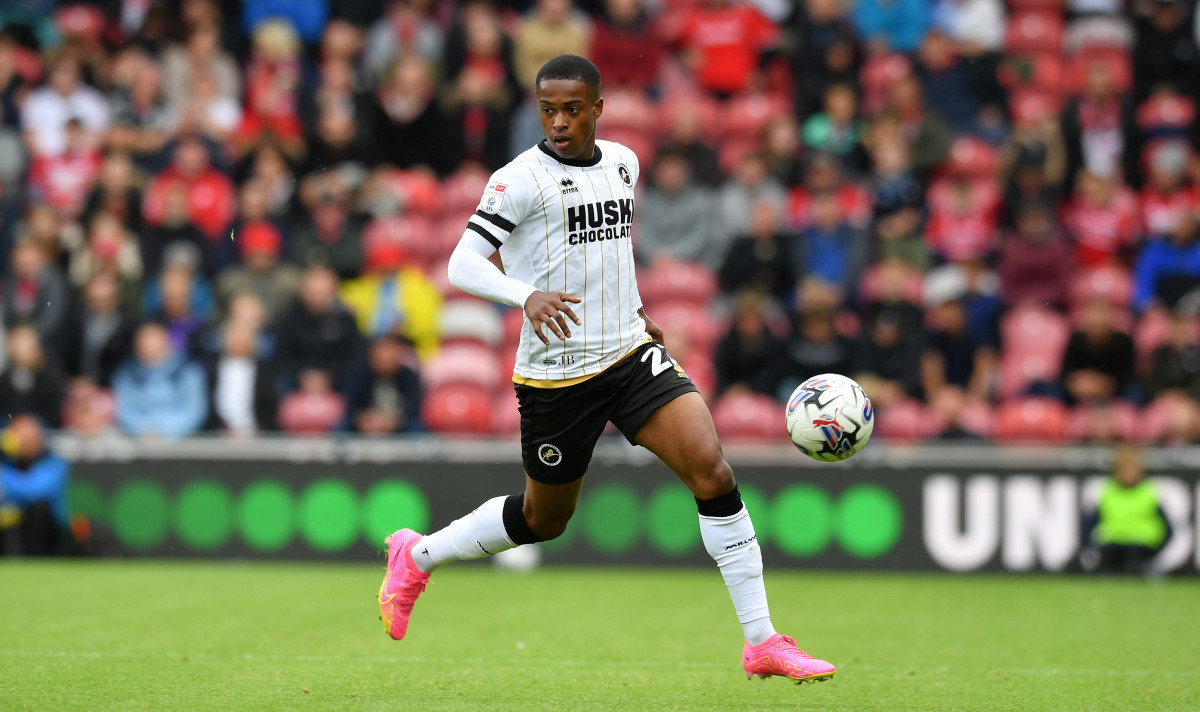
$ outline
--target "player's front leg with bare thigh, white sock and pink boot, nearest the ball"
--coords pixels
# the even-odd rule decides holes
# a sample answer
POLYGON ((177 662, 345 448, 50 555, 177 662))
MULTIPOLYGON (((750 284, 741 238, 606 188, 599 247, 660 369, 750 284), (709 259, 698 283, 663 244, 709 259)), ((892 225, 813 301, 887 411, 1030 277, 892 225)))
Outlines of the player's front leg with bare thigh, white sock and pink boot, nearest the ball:
POLYGON ((684 393, 656 407, 634 441, 658 455, 696 498, 704 549, 725 579, 746 639, 742 653, 746 677, 782 675, 797 683, 833 677, 836 668, 799 650, 772 626, 754 522, 700 394, 684 393))

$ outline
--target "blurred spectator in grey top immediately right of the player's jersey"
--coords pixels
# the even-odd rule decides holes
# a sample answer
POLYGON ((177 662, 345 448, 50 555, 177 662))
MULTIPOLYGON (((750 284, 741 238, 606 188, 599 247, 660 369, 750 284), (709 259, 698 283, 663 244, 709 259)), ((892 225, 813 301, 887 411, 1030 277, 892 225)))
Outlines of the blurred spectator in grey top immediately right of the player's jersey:
POLYGON ((637 257, 643 264, 660 259, 698 262, 720 267, 713 196, 692 181, 684 154, 660 150, 654 180, 642 193, 637 210, 637 257))

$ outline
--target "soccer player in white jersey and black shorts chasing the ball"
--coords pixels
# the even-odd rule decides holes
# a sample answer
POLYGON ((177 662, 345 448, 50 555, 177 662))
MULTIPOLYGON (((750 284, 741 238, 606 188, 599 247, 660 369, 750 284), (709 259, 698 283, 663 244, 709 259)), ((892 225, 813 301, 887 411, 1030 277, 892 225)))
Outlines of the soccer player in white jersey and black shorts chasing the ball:
POLYGON ((538 72, 536 92, 546 139, 492 175, 449 262, 460 289, 524 309, 512 381, 526 489, 432 534, 389 537, 379 587, 384 628, 404 636, 437 567, 562 534, 596 439, 612 421, 695 495, 704 549, 745 634, 746 677, 833 677, 832 664, 775 633, 762 552, 708 407, 642 309, 630 240, 637 156, 596 140, 600 72, 581 56, 557 56, 538 72))

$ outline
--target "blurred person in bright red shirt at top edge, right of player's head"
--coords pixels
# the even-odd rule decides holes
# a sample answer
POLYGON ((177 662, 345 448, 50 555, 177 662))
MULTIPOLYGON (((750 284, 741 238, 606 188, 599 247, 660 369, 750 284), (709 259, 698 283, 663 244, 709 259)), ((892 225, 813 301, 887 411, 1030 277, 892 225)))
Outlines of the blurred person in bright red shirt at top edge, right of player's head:
POLYGON ((701 88, 728 97, 750 85, 775 38, 775 25, 754 6, 704 0, 684 20, 678 41, 701 88))

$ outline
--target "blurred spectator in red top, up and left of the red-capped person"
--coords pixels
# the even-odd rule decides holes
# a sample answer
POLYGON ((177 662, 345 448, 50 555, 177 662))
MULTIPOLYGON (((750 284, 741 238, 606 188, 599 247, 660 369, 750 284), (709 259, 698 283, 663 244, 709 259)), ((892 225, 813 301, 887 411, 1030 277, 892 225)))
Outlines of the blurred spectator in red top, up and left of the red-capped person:
POLYGON ((175 146, 170 166, 146 189, 143 207, 146 225, 163 223, 167 196, 178 187, 187 193, 188 220, 210 240, 229 239, 226 232, 234 216, 234 186, 212 167, 208 149, 196 137, 184 138, 175 146))

